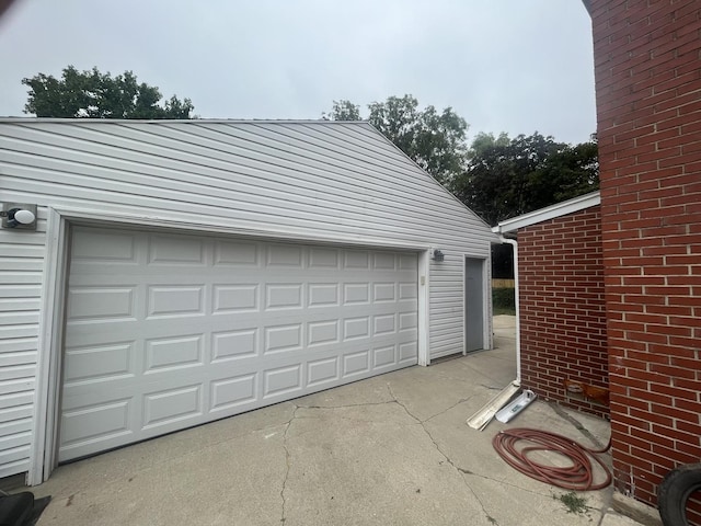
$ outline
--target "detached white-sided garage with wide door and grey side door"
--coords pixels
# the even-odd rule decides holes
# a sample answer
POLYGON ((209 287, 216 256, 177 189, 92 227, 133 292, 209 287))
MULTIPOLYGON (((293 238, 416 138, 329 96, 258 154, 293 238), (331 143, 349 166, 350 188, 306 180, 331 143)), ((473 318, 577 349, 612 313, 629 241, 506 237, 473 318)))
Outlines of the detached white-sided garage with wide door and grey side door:
POLYGON ((0 477, 491 347, 494 235, 367 123, 0 119, 0 477))

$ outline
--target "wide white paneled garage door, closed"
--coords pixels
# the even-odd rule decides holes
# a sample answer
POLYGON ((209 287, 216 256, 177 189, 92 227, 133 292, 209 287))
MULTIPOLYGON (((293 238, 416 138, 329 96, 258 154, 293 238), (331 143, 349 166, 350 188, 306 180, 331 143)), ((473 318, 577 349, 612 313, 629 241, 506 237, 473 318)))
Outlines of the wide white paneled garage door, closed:
POLYGON ((417 362, 414 253, 74 228, 59 460, 417 362))

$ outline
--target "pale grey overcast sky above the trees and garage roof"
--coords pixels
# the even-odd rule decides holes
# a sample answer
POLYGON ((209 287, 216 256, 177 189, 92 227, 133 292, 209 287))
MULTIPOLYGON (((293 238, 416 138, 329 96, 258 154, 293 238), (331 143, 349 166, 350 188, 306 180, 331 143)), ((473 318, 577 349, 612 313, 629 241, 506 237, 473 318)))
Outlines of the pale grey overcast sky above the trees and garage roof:
POLYGON ((0 115, 38 72, 131 70, 204 118, 319 118, 413 94, 479 132, 596 130, 581 0, 16 0, 0 20, 0 115))

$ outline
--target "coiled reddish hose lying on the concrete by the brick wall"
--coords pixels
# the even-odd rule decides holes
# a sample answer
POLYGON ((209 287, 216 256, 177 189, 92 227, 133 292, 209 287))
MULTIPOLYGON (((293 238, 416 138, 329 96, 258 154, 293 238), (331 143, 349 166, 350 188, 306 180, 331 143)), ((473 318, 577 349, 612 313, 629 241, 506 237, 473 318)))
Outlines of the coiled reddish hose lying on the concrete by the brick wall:
POLYGON ((558 488, 575 491, 600 490, 611 483, 611 471, 596 454, 605 453, 604 449, 589 449, 566 436, 549 433, 547 431, 518 427, 501 431, 492 439, 496 453, 514 469, 528 477, 547 482, 558 488), (537 451, 553 451, 570 459, 571 466, 558 467, 540 464, 532 458, 537 451), (604 482, 595 483, 594 458, 606 472, 604 482))

